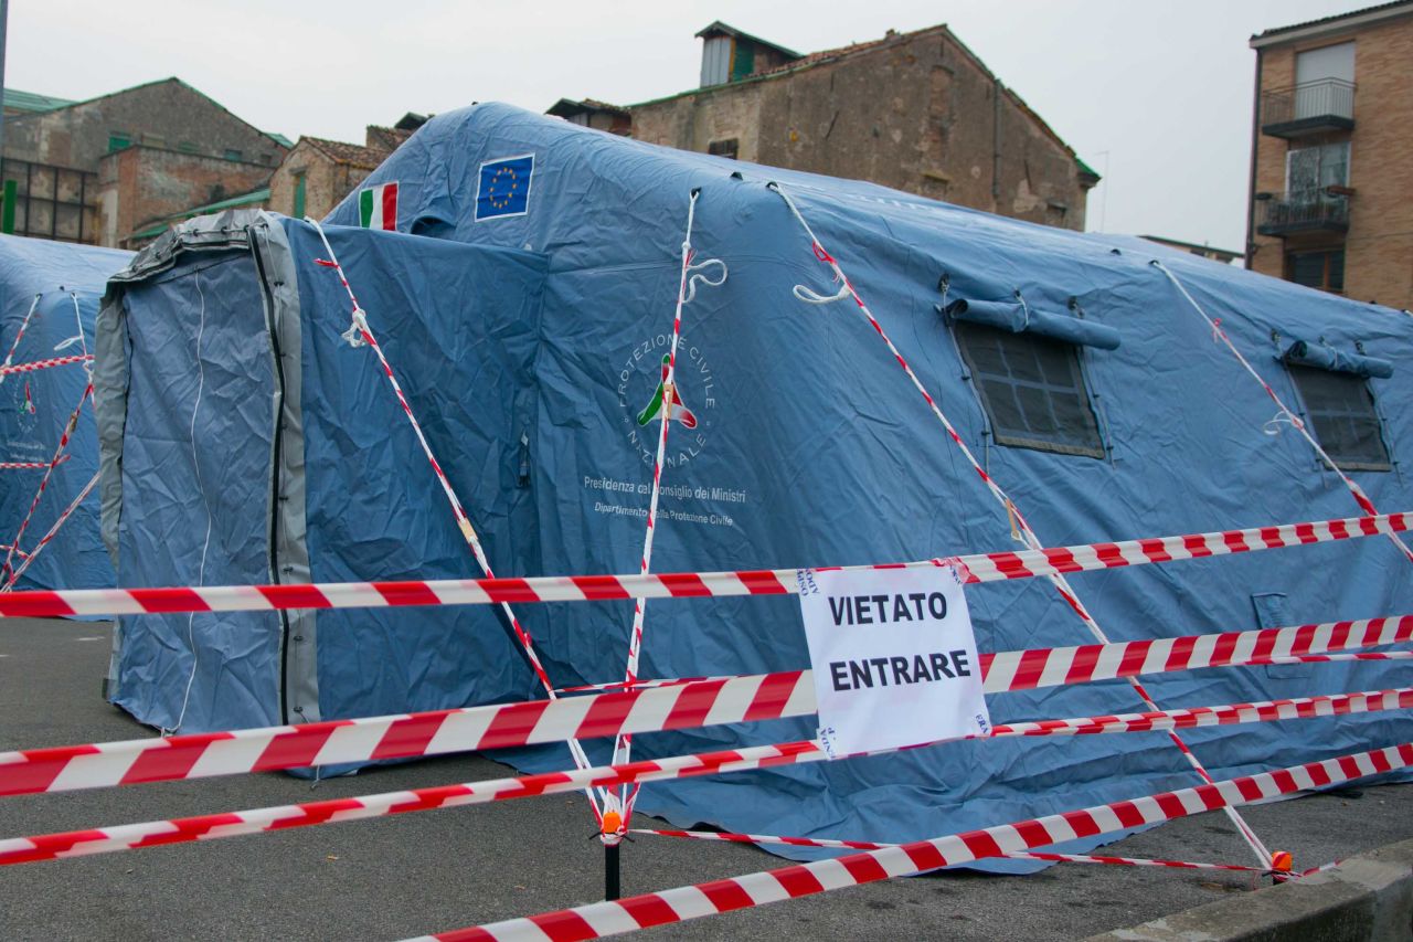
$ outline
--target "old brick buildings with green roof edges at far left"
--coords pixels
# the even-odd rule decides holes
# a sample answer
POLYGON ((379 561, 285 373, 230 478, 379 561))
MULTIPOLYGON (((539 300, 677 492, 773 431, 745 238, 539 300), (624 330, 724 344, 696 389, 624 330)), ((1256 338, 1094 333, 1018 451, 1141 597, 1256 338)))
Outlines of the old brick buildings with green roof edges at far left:
POLYGON ((263 187, 288 150, 175 78, 16 105, 0 174, 20 235, 133 248, 154 221, 263 187))

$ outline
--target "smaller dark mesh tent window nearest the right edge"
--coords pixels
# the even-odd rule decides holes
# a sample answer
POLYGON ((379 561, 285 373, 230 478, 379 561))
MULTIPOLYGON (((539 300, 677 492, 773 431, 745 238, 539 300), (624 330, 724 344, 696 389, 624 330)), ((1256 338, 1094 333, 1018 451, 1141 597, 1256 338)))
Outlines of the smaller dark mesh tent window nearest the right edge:
POLYGON ((1287 365, 1320 447, 1344 471, 1390 471, 1369 383, 1355 373, 1287 365))

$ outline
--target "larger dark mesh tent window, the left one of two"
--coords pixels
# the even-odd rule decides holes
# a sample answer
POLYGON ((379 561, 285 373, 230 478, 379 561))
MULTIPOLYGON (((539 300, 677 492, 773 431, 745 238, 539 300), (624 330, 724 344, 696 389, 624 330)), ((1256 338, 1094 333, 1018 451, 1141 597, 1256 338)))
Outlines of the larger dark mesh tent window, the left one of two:
POLYGON ((1074 347, 964 321, 954 330, 998 444, 1104 457, 1074 347))

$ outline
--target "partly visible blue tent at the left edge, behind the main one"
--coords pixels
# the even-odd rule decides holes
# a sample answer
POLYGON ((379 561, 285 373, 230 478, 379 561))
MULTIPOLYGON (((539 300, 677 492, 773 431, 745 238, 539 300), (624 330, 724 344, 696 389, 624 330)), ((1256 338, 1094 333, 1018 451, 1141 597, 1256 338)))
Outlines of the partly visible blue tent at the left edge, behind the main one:
MULTIPOLYGON (((18 366, 88 351, 103 284, 131 257, 119 249, 0 236, 0 361, 10 355, 18 366)), ((48 464, 86 386, 82 364, 0 376, 0 463, 48 464)), ((79 412, 64 455, 34 506, 20 552, 10 559, 11 570, 25 564, 23 553, 35 547, 97 474, 92 407, 79 412)), ((44 468, 0 471, 0 543, 6 546, 0 560, 10 556, 8 546, 42 479, 44 468)), ((113 586, 97 518, 97 494, 92 492, 28 564, 16 588, 113 586)), ((7 581, 8 574, 0 577, 0 586, 7 581)))

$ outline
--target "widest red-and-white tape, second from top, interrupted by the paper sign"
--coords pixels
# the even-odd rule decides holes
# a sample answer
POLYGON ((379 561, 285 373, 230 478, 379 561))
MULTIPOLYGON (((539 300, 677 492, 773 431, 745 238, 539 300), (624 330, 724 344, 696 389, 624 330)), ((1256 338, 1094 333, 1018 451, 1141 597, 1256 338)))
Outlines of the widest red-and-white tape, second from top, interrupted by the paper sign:
MULTIPOLYGON (((1291 659, 1413 656, 1402 651, 1330 653, 1409 639, 1413 639, 1413 615, 983 653, 981 670, 986 693, 1005 693, 1291 659)), ((560 700, 0 752, 0 795, 512 748, 575 737, 755 723, 814 711, 814 676, 808 670, 722 678, 560 700)), ((1181 713, 1190 711, 1177 710, 1173 716, 1181 713)), ((1104 717, 1096 717, 1095 723, 1098 720, 1104 717)), ((1116 717, 1106 721, 1119 723, 1116 717)), ((1210 721, 1215 720, 1194 719, 1194 724, 1210 721)))

